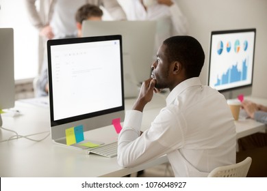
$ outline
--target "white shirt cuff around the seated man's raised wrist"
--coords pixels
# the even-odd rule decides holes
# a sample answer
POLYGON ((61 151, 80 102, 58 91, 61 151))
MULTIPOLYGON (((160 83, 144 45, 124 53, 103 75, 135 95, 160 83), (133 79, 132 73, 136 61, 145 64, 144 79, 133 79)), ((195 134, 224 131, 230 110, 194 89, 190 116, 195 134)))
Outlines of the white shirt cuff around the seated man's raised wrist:
POLYGON ((142 124, 142 112, 136 110, 126 111, 123 128, 133 128, 140 131, 142 124))

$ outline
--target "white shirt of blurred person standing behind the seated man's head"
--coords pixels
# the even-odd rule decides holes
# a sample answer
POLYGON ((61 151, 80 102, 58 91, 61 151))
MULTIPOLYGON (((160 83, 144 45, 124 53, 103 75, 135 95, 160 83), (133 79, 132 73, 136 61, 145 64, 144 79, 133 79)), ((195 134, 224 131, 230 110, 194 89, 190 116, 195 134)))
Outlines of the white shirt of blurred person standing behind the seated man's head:
POLYGON ((128 20, 157 21, 155 53, 166 38, 173 35, 186 35, 188 31, 186 16, 175 2, 170 7, 155 3, 145 10, 140 0, 131 0, 127 9, 127 18, 128 20))

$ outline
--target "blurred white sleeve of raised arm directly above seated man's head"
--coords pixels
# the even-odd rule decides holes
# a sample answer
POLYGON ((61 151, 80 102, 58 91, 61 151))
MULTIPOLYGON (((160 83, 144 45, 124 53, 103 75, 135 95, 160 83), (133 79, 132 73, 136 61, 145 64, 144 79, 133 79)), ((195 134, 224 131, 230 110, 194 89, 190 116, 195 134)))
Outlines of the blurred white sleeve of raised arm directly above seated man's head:
POLYGON ((181 12, 177 3, 173 3, 173 5, 170 6, 170 14, 177 35, 186 35, 188 33, 188 20, 181 12))

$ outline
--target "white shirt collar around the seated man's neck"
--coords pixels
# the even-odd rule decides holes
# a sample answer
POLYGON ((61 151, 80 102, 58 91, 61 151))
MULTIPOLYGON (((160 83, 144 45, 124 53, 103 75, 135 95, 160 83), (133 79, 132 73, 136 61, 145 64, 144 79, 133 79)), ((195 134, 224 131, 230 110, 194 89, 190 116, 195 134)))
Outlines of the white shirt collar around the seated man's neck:
POLYGON ((188 89, 188 87, 192 87, 196 85, 201 86, 201 80, 199 79, 199 77, 189 78, 179 83, 179 85, 177 85, 172 91, 170 91, 170 94, 166 98, 167 106, 173 103, 175 99, 177 98, 177 95, 179 95, 185 89, 188 89))

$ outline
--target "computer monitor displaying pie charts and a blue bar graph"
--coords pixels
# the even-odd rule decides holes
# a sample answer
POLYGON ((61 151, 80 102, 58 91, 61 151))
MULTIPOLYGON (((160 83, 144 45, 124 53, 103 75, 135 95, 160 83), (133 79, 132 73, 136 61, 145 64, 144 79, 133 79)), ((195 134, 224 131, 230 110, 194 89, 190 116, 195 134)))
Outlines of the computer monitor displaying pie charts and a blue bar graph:
POLYGON ((225 98, 251 94, 256 29, 212 31, 208 85, 225 98))

